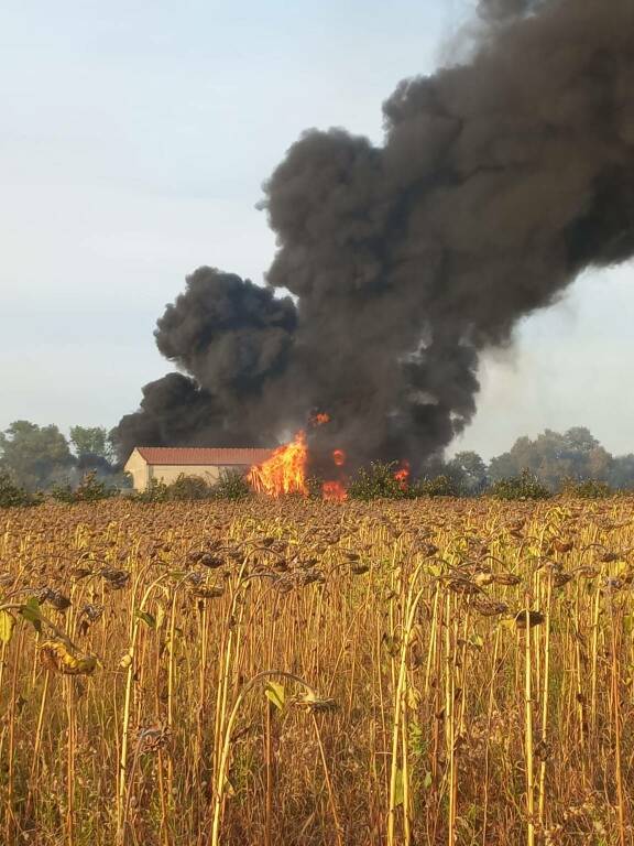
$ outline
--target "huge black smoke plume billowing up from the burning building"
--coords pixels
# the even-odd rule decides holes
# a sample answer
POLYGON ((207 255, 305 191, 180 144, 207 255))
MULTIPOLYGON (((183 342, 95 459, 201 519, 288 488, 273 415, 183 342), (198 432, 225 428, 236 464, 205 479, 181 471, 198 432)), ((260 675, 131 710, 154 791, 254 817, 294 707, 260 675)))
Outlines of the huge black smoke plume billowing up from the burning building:
POLYGON ((319 409, 320 445, 420 466, 471 420, 482 350, 634 253, 634 3, 479 12, 474 58, 401 83, 382 147, 337 129, 291 148, 265 185, 269 289, 189 279, 156 338, 194 380, 145 388, 123 449, 262 443, 319 409))

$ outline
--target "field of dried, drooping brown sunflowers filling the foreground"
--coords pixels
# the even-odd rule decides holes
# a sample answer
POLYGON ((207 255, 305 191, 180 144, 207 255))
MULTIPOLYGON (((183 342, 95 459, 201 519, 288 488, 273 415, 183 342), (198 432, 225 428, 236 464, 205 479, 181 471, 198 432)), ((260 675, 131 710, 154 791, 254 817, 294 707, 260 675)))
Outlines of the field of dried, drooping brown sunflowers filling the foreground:
POLYGON ((0 512, 0 840, 633 843, 633 509, 0 512))

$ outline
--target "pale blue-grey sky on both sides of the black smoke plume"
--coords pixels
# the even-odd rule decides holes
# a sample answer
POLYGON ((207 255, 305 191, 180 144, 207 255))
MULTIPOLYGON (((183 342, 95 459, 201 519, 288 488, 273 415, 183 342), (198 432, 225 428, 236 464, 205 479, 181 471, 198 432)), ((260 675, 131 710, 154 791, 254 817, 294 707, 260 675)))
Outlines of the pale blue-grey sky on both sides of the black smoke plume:
MULTIPOLYGON (((375 143, 404 77, 456 61, 470 0, 3 0, 0 430, 114 425, 172 369, 200 264, 262 282, 262 182, 310 127, 375 143)), ((587 425, 634 452, 631 265, 588 273, 482 362, 456 449, 587 425)))

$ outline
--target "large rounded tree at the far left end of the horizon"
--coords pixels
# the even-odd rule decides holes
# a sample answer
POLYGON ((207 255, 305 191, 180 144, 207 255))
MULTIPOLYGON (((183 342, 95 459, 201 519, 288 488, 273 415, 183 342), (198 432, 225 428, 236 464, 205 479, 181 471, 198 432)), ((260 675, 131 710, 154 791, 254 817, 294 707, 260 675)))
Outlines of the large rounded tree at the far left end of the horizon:
POLYGON ((57 426, 17 420, 0 432, 0 465, 29 490, 46 487, 67 473, 74 460, 57 426))

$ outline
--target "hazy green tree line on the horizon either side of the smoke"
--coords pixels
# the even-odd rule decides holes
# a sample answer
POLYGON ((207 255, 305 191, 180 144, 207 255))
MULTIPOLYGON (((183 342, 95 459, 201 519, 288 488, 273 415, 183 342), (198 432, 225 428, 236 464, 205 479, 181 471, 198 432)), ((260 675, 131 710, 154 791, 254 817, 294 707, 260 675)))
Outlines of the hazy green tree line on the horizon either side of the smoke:
MULTIPOLYGON (((614 490, 634 489, 634 454, 614 456, 584 426, 558 433, 546 430, 536 438, 520 437, 511 449, 490 462, 472 451, 434 465, 456 489, 484 492, 496 482, 529 473, 550 491, 570 482, 594 480, 614 490)), ((0 432, 0 473, 30 491, 80 484, 92 473, 111 487, 129 487, 117 460, 112 432, 105 426, 73 426, 66 437, 57 426, 18 420, 0 432)))

